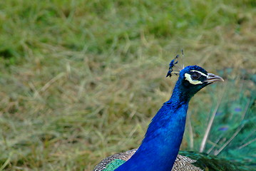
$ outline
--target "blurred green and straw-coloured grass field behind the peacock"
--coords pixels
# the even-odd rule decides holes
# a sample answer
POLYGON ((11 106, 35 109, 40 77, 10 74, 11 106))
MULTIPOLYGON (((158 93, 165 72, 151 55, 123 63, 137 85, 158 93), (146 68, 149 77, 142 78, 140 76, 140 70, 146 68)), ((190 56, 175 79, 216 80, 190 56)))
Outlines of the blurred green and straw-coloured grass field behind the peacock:
POLYGON ((0 43, 0 170, 89 171, 138 147, 181 49, 225 78, 191 101, 183 150, 200 149, 218 101, 230 124, 255 113, 253 0, 0 1, 0 43))

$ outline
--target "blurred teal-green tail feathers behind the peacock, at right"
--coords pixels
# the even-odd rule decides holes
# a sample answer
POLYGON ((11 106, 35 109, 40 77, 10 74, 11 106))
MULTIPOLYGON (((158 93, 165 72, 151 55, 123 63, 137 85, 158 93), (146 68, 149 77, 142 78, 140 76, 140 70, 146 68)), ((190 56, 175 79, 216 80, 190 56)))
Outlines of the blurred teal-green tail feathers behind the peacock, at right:
MULTIPOLYGON (((245 74, 247 74, 246 80, 240 78, 226 82, 227 88, 224 90, 215 113, 203 152, 236 162, 240 170, 256 170, 256 81, 252 79, 254 75, 245 74)), ((212 86, 211 88, 219 87, 212 86)), ((215 90, 210 90, 210 92, 215 92, 215 90)), ((214 99, 215 96, 213 95, 212 98, 214 99)), ((213 101, 216 102, 217 99, 213 101)), ((192 129, 195 130, 193 142, 198 145, 203 140, 201 133, 205 132, 209 123, 209 121, 205 122, 207 113, 202 108, 193 111, 193 113, 198 113, 197 120, 199 121, 191 122, 192 129)), ((191 136, 185 138, 190 140, 191 136)), ((199 151, 199 147, 185 150, 199 151)))

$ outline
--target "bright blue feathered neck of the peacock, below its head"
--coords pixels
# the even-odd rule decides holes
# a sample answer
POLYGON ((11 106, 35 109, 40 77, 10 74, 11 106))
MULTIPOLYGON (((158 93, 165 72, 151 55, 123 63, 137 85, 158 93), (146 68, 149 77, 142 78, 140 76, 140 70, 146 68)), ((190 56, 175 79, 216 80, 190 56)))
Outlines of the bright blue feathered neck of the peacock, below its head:
POLYGON ((183 140, 189 100, 176 84, 170 100, 148 126, 137 152, 116 171, 170 171, 183 140))

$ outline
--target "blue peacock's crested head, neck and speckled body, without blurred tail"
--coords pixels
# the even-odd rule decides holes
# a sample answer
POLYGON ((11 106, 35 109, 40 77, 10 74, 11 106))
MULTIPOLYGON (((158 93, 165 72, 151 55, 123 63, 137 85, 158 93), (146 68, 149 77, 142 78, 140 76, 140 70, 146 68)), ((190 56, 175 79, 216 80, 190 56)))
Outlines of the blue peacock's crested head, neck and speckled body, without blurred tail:
MULTIPOLYGON (((177 58, 178 56, 170 62, 166 77, 173 75, 177 58)), ((179 77, 173 93, 151 120, 140 147, 107 157, 93 171, 201 171, 205 169, 202 164, 205 158, 211 161, 210 166, 206 167, 208 169, 220 167, 219 170, 239 170, 231 162, 214 156, 195 152, 178 154, 190 99, 205 86, 224 80, 200 66, 186 66, 174 74, 179 77), (225 167, 221 162, 225 162, 225 167)))

